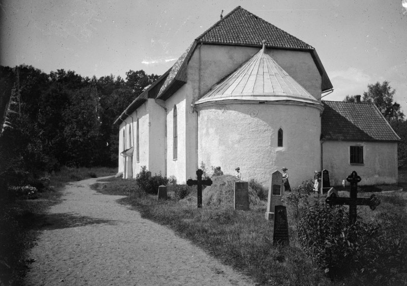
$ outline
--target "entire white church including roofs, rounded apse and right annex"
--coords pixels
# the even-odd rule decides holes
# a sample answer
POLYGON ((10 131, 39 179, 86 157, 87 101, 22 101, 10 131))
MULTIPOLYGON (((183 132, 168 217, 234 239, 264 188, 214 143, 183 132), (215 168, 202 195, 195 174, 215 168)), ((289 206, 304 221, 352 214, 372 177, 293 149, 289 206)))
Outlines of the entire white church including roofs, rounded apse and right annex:
POLYGON ((226 174, 239 166, 243 180, 265 186, 283 166, 293 186, 322 169, 332 184, 354 169, 362 183, 397 182, 398 136, 374 105, 321 101, 332 90, 312 46, 239 6, 115 120, 119 172, 132 178, 146 166, 185 183, 203 162, 226 174), (363 152, 363 163, 351 163, 350 150, 355 157, 363 152))

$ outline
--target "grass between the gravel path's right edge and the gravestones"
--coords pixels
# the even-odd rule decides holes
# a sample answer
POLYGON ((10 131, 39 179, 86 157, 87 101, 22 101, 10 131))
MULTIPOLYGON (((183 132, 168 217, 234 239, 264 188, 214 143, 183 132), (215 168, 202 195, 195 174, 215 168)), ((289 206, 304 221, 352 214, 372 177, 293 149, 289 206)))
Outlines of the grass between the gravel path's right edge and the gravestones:
POLYGON ((333 284, 298 248, 293 228, 289 230, 290 246, 273 245, 273 223, 265 219, 265 203, 251 206, 250 211, 232 207, 197 209, 196 190, 176 201, 169 188, 170 199, 158 201, 140 192, 135 180, 99 182, 93 188, 103 194, 128 196, 119 202, 135 207, 144 218, 168 226, 257 283, 333 284))

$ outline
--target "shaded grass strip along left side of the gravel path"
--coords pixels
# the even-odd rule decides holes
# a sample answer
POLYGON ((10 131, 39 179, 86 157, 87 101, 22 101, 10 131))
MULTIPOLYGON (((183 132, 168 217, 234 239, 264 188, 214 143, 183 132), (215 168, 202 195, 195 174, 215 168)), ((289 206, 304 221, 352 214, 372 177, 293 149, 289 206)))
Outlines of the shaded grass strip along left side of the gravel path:
POLYGON ((49 177, 50 185, 39 188, 31 198, 8 194, 0 197, 0 285, 22 285, 23 276, 33 262, 26 256, 35 245, 38 230, 46 223, 46 212, 60 202, 61 189, 70 181, 94 176, 115 175, 112 168, 63 167, 49 177))

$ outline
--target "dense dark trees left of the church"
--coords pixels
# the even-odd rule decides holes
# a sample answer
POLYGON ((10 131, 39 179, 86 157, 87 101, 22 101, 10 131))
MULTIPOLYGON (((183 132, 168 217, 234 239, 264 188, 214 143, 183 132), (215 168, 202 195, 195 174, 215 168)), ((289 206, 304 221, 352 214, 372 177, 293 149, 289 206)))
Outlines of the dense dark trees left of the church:
POLYGON ((22 172, 116 166, 119 128, 113 122, 158 78, 142 70, 123 79, 0 67, 2 99, 11 98, 0 148, 13 154, 10 167, 22 172))

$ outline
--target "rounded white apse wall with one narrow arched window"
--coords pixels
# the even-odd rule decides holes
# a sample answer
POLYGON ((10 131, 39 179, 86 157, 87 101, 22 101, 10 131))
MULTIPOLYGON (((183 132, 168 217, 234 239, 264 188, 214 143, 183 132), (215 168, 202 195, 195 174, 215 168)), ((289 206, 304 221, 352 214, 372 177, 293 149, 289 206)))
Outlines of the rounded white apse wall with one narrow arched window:
POLYGON ((243 180, 268 186, 271 174, 288 168, 292 187, 311 179, 321 164, 321 108, 295 104, 228 103, 198 106, 198 162, 220 166, 225 174, 240 167, 243 180), (277 132, 283 130, 283 147, 277 132))

